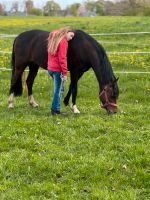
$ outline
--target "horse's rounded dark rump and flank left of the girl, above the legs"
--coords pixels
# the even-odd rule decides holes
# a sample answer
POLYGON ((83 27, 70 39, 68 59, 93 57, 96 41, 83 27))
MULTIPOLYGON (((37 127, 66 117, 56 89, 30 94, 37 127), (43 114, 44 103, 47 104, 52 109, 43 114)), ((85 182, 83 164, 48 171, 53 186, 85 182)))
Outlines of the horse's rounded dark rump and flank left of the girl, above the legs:
POLYGON ((48 36, 49 32, 42 30, 31 30, 19 34, 13 48, 15 63, 28 65, 32 62, 46 68, 48 36))

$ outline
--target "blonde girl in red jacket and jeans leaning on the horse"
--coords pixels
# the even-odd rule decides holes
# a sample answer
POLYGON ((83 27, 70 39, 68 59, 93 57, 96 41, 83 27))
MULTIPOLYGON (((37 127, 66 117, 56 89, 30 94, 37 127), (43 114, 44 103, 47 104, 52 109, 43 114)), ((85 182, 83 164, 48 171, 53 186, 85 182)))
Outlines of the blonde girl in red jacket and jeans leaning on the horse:
POLYGON ((60 112, 60 97, 63 82, 67 80, 68 41, 73 37, 74 31, 65 27, 51 32, 48 38, 48 73, 54 80, 52 115, 63 114, 60 112))

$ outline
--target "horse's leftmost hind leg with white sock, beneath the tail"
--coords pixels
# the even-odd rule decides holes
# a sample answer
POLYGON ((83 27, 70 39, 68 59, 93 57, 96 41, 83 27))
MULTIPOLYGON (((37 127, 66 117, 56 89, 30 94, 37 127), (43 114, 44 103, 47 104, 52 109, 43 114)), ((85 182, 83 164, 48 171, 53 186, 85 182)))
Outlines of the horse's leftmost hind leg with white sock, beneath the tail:
POLYGON ((14 96, 21 96, 22 94, 22 73, 26 66, 16 66, 12 72, 11 86, 9 90, 8 108, 14 107, 14 96))

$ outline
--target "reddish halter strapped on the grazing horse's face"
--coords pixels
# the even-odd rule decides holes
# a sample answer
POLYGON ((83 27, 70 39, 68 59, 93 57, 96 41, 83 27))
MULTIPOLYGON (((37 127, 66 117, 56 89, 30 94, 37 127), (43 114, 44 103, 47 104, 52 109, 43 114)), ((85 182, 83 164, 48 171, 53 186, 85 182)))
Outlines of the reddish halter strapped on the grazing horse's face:
POLYGON ((101 105, 102 108, 106 108, 111 106, 111 107, 115 107, 117 108, 117 104, 116 103, 112 103, 109 101, 108 99, 108 95, 107 95, 107 88, 108 88, 109 85, 106 85, 104 87, 104 89, 102 90, 102 92, 99 94, 100 97, 104 96, 104 100, 105 100, 105 103, 101 105))

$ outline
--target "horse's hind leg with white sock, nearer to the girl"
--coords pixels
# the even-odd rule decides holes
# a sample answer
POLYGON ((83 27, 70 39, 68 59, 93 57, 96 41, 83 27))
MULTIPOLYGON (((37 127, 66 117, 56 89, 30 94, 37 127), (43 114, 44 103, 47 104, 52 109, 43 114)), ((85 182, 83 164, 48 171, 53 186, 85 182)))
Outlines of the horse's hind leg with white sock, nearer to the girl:
POLYGON ((39 105, 36 103, 36 101, 34 100, 34 97, 32 95, 32 87, 33 87, 33 83, 34 83, 34 79, 37 75, 39 66, 36 64, 30 64, 29 65, 29 74, 26 80, 27 83, 27 88, 28 88, 28 100, 29 100, 29 104, 31 106, 33 106, 34 108, 38 107, 39 105))

